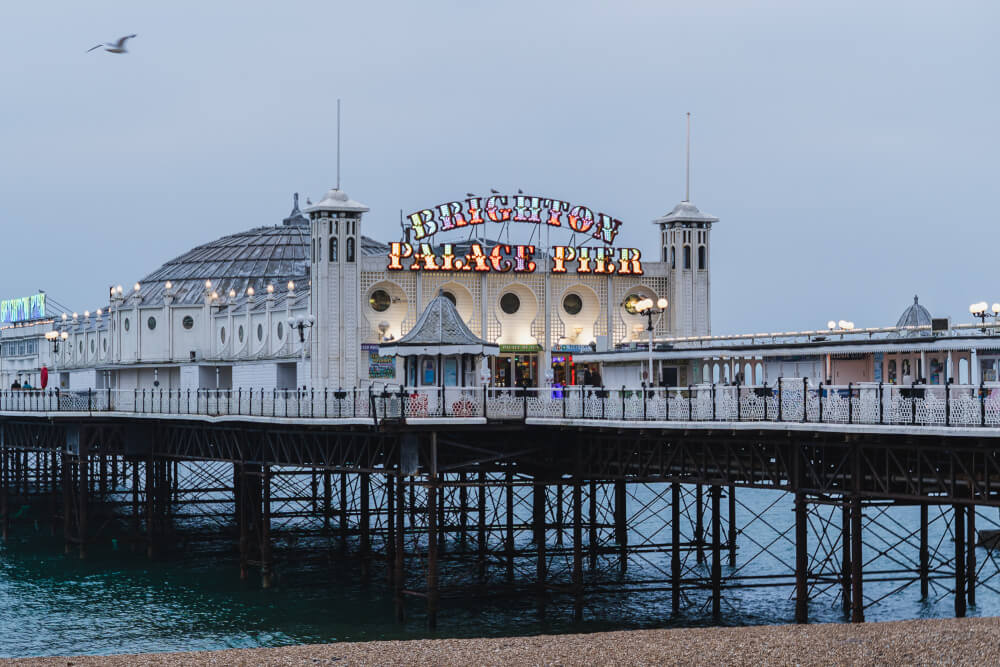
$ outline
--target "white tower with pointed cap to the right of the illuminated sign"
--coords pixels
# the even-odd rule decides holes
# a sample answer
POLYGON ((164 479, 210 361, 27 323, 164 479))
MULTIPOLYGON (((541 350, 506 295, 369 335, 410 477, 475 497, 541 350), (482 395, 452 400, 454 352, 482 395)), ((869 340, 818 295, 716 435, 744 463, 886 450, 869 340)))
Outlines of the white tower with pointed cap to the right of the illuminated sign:
POLYGON ((660 227, 662 261, 670 267, 671 335, 707 336, 711 321, 711 233, 719 219, 685 200, 653 221, 660 227))

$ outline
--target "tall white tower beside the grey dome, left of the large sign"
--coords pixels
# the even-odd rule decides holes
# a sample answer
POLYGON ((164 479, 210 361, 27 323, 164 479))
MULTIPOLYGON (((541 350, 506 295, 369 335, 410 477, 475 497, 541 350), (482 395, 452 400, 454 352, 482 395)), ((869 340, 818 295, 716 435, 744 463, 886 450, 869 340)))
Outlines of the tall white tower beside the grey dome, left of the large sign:
POLYGON ((368 207, 334 188, 306 208, 311 230, 313 387, 345 389, 358 378, 361 215, 368 207))

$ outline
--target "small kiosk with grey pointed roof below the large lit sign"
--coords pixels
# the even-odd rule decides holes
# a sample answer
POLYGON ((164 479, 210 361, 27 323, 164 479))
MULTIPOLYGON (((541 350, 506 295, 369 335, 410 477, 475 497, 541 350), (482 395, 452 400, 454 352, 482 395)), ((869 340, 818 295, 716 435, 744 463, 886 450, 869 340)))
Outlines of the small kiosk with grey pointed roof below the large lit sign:
POLYGON ((485 364, 476 373, 477 357, 498 356, 500 346, 472 333, 455 304, 439 291, 405 336, 379 344, 379 354, 404 358, 408 386, 473 387, 488 381, 480 375, 485 364))

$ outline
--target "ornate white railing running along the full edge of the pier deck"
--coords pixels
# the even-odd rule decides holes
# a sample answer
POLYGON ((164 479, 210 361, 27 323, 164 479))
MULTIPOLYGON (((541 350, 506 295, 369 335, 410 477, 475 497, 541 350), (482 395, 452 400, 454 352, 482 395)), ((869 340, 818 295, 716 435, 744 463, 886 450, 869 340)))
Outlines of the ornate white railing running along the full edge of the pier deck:
POLYGON ((399 387, 0 392, 4 413, 138 413, 302 419, 528 418, 1000 426, 1000 384, 700 384, 671 388, 399 387))

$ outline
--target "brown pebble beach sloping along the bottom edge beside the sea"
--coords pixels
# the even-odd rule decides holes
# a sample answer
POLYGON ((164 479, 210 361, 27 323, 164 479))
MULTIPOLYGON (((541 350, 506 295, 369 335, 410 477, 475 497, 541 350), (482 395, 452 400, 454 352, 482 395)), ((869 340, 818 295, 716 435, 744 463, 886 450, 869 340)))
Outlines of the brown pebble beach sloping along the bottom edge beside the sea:
POLYGON ((192 653, 19 658, 3 665, 988 665, 1000 618, 424 639, 192 653))

